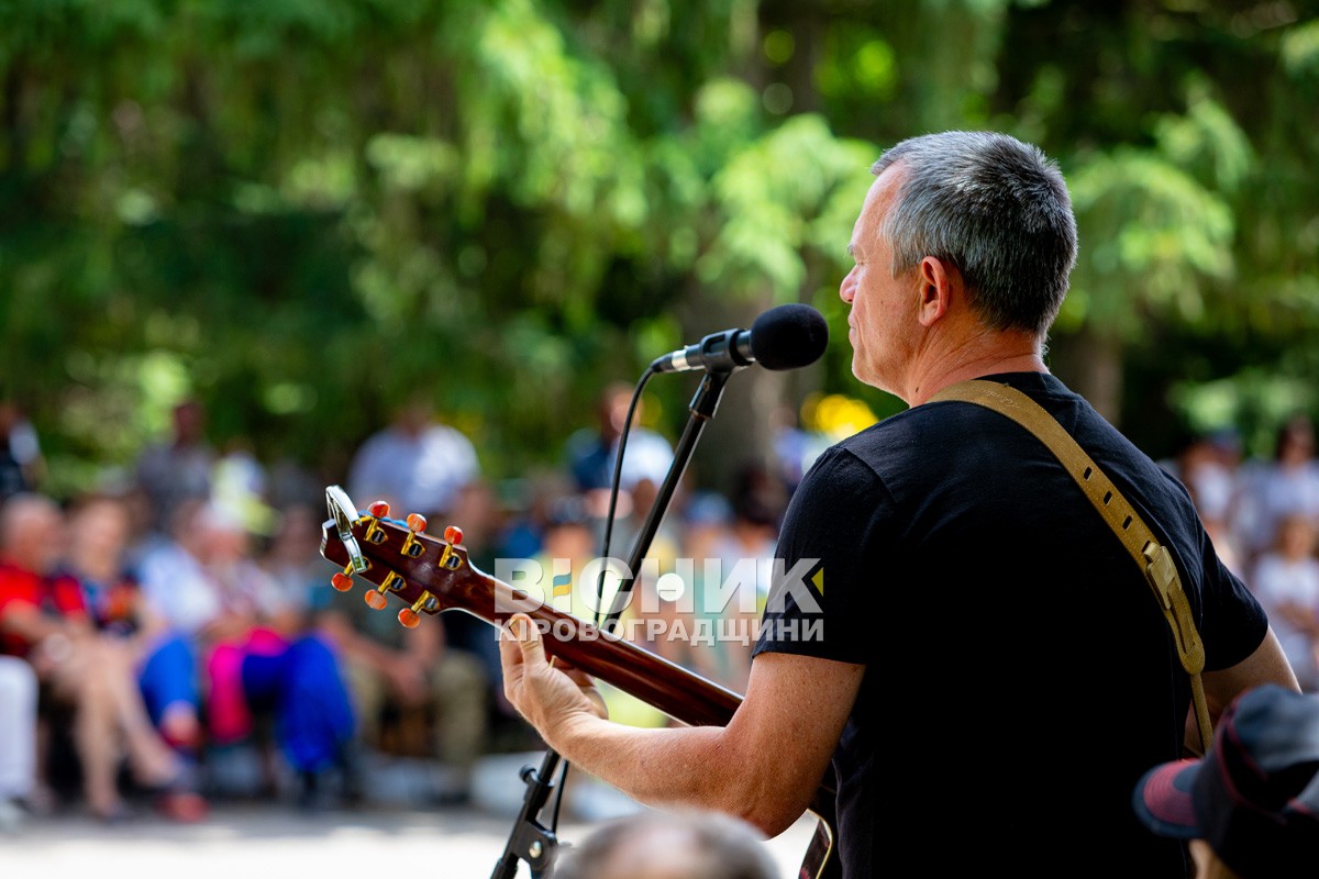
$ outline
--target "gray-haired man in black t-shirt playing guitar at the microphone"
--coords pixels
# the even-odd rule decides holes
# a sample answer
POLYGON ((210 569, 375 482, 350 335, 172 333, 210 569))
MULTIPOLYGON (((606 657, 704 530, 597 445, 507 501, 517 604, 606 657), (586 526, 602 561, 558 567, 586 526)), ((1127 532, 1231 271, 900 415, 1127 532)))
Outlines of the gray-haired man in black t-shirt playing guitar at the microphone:
POLYGON ((1132 787, 1195 731, 1192 680, 1210 714, 1295 677, 1184 488, 1049 372, 1078 250, 1057 165, 1005 134, 944 132, 873 171, 839 295, 853 374, 909 409, 828 449, 793 496, 777 550, 791 576, 770 593, 732 721, 611 723, 517 618, 501 642, 509 698, 634 799, 766 836, 831 781, 845 879, 911 855, 940 875, 1183 876, 1183 849, 1137 824, 1132 787), (1130 502, 1146 546, 1166 550, 1159 582, 1181 577, 1198 679, 1100 502, 1022 424, 955 397, 969 380, 1042 409, 1093 463, 1082 478, 1112 481, 1103 505, 1130 502), (1084 792, 1066 808, 1051 807, 1058 767, 1084 792))

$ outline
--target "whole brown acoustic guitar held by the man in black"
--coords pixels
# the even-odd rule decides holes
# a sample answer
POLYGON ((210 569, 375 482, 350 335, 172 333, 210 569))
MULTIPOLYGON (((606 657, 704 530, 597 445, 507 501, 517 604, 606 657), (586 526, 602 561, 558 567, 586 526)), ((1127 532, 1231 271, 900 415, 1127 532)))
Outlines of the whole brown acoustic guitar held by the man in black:
MULTIPOLYGON (((426 534, 426 519, 412 514, 389 518, 389 505, 372 503, 365 513, 336 485, 326 489, 330 519, 322 526, 321 555, 343 569, 331 585, 347 592, 353 577, 375 589, 368 605, 380 610, 389 598, 401 600, 398 622, 409 629, 422 614, 462 610, 492 626, 503 626, 514 613, 525 613, 542 631, 545 652, 571 663, 689 726, 724 726, 741 696, 695 675, 612 631, 578 619, 537 601, 526 592, 492 577, 471 564, 462 530, 450 526, 445 539, 426 534)), ((834 789, 822 784, 810 807, 818 818, 798 879, 836 879, 842 874, 834 855, 834 789)))

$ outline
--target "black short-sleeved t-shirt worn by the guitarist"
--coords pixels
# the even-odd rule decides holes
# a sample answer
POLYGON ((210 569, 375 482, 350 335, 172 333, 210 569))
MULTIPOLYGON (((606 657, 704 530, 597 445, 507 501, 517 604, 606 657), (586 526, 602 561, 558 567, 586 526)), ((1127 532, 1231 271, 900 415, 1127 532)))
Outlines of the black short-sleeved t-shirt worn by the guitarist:
MULTIPOLYGON (((989 378, 1049 410, 1169 547, 1207 668, 1249 656, 1266 618, 1182 485, 1055 377, 989 378)), ((888 418, 814 464, 778 555, 756 651, 867 666, 834 758, 847 879, 911 857, 933 875, 1183 875, 1130 797, 1181 755, 1187 676, 1144 575, 1039 440, 969 403, 888 418)))

